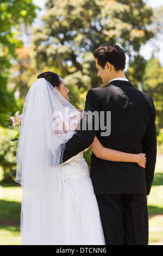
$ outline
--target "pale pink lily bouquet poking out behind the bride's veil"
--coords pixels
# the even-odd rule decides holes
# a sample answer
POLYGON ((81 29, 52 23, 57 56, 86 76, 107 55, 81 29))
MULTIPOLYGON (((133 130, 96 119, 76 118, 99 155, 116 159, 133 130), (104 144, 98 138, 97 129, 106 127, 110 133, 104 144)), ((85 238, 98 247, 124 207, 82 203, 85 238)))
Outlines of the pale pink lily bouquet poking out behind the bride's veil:
POLYGON ((21 121, 22 121, 22 114, 19 115, 20 111, 17 111, 14 115, 14 117, 11 117, 12 113, 9 113, 9 120, 12 120, 12 126, 9 126, 10 129, 13 129, 17 132, 17 135, 11 139, 11 141, 18 141, 19 133, 20 133, 20 127, 21 127, 21 121))

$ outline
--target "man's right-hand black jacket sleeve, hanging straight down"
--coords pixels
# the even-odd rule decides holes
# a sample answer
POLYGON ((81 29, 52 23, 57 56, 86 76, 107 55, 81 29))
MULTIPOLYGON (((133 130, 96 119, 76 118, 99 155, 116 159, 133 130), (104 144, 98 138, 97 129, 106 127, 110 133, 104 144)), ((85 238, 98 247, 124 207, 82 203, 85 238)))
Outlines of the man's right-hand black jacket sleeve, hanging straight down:
POLYGON ((155 126, 155 107, 152 99, 151 120, 149 121, 146 135, 142 141, 143 153, 146 154, 146 184, 147 195, 151 191, 154 178, 156 162, 156 126, 155 126))

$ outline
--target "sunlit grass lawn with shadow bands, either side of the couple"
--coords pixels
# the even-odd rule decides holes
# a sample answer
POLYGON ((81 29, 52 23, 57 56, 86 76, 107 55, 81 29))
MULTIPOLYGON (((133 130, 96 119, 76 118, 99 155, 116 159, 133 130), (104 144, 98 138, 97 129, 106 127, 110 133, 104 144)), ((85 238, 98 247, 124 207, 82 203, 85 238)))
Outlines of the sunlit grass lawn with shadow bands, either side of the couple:
MULTIPOLYGON (((20 245, 21 188, 0 183, 0 245, 20 245)), ((163 157, 148 197, 149 245, 163 245, 163 157)))

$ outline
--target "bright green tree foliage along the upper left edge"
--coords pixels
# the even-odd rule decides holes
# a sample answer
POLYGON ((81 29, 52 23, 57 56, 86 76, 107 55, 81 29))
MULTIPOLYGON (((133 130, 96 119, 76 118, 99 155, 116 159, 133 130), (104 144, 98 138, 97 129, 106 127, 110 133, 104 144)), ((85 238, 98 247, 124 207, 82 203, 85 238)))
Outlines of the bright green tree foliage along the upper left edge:
POLYGON ((14 90, 7 87, 9 68, 16 58, 15 49, 23 43, 17 39, 21 23, 28 25, 36 17, 36 5, 32 0, 4 0, 0 3, 0 44, 3 47, 3 56, 0 57, 0 125, 7 126, 6 115, 14 111, 16 101, 14 90))

